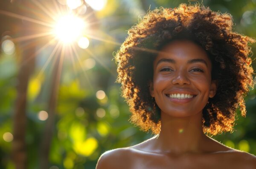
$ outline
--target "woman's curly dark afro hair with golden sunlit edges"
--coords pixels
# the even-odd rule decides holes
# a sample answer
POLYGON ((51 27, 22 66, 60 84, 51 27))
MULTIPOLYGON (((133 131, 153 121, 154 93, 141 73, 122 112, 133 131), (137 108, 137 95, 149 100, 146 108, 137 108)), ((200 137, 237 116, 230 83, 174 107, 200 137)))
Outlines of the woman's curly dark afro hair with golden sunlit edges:
POLYGON ((122 84, 131 122, 144 131, 160 132, 160 108, 149 93, 153 62, 168 42, 189 39, 207 52, 212 62, 212 80, 218 82, 216 95, 203 109, 203 130, 212 135, 232 131, 237 108, 242 116, 246 115, 244 96, 254 85, 248 45, 256 41, 233 32, 232 26, 230 14, 198 4, 154 9, 132 26, 115 56, 117 82, 122 84))

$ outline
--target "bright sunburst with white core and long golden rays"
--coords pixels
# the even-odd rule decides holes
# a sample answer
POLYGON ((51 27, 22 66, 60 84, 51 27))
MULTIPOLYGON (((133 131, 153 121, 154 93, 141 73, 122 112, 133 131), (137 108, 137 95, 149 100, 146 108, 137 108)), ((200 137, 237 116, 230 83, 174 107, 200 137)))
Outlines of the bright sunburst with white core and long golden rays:
MULTIPOLYGON (((85 74, 85 70, 93 68, 95 61, 99 62, 108 70, 107 66, 105 66, 104 63, 102 63, 99 59, 94 57, 93 53, 88 49, 90 47, 91 39, 120 45, 118 42, 114 42, 102 37, 101 35, 105 34, 104 32, 100 34, 98 32, 96 33, 96 31, 100 31, 99 29, 92 29, 91 25, 94 26, 94 24, 98 22, 97 20, 88 20, 93 14, 91 10, 88 10, 88 8, 92 8, 95 11, 100 11, 105 8, 107 0, 54 0, 52 1, 52 4, 54 5, 51 6, 51 8, 47 6, 46 1, 32 0, 32 3, 34 3, 33 5, 37 6, 41 10, 40 12, 44 12, 44 15, 40 15, 38 13, 38 16, 41 16, 41 18, 37 17, 37 19, 35 19, 33 16, 26 17, 9 11, 0 10, 0 14, 21 19, 28 23, 32 23, 32 25, 41 25, 42 28, 44 28, 42 29, 43 31, 37 29, 35 33, 31 33, 26 36, 3 37, 1 48, 5 54, 15 54, 15 44, 17 42, 25 42, 27 40, 38 38, 47 38, 48 40, 45 42, 45 44, 38 44, 37 51, 35 51, 33 56, 36 57, 45 49, 52 50, 44 66, 39 71, 38 78, 44 74, 44 71, 47 69, 50 63, 54 64, 54 58, 57 55, 61 55, 61 57, 69 55, 69 57, 72 58, 71 61, 73 67, 75 67, 75 65, 77 66, 77 60, 79 62, 78 65, 85 74), (48 31, 45 31, 47 30, 45 28, 48 28, 48 31), (54 44, 55 47, 52 48, 54 44), (85 61, 82 60, 81 56, 79 56, 78 50, 85 50, 85 52, 87 52, 91 58, 85 61), (59 51, 61 51, 61 54, 59 51)), ((29 59, 32 58, 28 57, 28 60, 29 59)))

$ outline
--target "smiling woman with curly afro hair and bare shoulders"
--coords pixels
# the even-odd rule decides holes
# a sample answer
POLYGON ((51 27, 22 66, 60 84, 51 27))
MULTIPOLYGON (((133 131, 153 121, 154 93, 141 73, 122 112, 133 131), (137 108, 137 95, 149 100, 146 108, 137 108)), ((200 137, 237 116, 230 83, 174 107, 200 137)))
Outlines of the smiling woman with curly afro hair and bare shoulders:
POLYGON ((149 11, 116 54, 131 121, 153 138, 105 152, 97 169, 256 169, 256 157, 209 138, 233 130, 253 86, 250 37, 204 6, 149 11))

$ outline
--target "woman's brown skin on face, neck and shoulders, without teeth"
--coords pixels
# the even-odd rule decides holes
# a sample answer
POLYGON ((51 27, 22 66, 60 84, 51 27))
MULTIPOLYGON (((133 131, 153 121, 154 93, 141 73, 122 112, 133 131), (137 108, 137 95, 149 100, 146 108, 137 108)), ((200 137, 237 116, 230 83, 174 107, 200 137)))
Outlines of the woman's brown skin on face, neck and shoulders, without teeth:
POLYGON ((161 109, 161 131, 135 146, 105 152, 96 169, 256 169, 256 157, 224 146, 202 130, 202 110, 216 93, 211 62, 200 46, 176 40, 154 60, 149 91, 161 109), (169 94, 193 95, 190 99, 169 94))

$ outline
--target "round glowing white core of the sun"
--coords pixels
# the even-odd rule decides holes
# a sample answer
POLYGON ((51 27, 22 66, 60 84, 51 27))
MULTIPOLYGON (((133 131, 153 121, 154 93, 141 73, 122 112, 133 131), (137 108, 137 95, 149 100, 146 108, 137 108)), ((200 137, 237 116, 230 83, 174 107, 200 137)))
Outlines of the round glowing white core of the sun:
POLYGON ((86 27, 85 22, 74 15, 61 17, 55 25, 54 34, 64 44, 76 41, 82 36, 82 31, 86 27))

